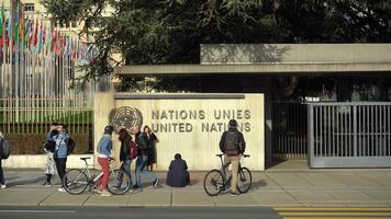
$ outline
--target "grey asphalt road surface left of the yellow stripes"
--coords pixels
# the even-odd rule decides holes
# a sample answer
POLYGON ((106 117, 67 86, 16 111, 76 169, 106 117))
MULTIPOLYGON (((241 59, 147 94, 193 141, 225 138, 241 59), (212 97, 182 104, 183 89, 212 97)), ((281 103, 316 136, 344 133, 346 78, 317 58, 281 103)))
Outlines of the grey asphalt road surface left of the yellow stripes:
POLYGON ((1 207, 4 219, 280 219, 272 208, 18 208, 1 207))

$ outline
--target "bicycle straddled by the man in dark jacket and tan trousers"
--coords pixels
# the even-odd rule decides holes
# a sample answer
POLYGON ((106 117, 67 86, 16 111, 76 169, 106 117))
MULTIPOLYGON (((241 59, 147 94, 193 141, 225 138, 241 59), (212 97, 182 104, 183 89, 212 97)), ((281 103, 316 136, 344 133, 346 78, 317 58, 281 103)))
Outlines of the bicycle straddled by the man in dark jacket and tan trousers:
MULTIPOLYGON (((232 175, 226 178, 225 169, 231 164, 227 163, 224 165, 223 162, 224 154, 216 154, 221 161, 221 170, 211 170, 206 173, 204 181, 203 181, 203 188, 209 196, 216 196, 223 191, 230 188, 232 175)), ((243 154, 243 158, 249 158, 249 154, 243 154)), ((252 187, 253 183, 253 175, 252 172, 242 166, 239 162, 239 168, 237 172, 237 191, 239 193, 247 193, 252 187)))

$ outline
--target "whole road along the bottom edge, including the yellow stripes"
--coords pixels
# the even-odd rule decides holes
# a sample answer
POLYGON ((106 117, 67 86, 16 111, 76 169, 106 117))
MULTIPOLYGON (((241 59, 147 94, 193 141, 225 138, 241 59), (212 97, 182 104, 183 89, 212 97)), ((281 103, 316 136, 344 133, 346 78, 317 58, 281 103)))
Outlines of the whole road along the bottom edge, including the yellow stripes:
POLYGON ((174 208, 103 208, 103 207, 0 207, 4 219, 383 219, 391 218, 388 207, 174 207, 174 208))

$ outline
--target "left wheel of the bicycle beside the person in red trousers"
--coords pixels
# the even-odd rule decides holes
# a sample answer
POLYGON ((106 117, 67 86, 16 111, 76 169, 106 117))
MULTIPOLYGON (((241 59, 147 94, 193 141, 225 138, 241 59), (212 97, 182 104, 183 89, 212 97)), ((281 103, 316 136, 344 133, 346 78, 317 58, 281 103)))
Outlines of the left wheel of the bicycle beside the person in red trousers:
POLYGON ((63 181, 63 186, 66 192, 72 195, 81 194, 88 186, 88 177, 85 172, 80 170, 69 170, 63 181))

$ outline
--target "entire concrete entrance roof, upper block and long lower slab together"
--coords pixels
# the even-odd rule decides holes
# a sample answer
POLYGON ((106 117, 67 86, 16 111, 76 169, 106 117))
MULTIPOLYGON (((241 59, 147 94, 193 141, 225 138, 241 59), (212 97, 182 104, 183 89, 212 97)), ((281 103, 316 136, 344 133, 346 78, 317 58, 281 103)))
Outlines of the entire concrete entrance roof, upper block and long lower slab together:
POLYGON ((391 44, 203 44, 200 64, 134 65, 122 77, 391 73, 391 44))

